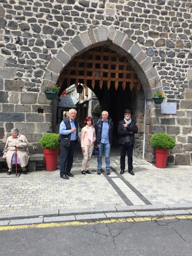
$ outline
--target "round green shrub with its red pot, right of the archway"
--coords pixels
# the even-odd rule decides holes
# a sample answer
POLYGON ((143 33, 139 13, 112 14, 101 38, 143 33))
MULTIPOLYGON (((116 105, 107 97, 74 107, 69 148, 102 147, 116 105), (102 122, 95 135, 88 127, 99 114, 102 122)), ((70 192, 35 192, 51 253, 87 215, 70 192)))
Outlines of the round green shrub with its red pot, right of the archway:
POLYGON ((156 167, 165 168, 169 150, 175 145, 175 139, 166 133, 157 133, 151 137, 150 143, 155 148, 156 167))

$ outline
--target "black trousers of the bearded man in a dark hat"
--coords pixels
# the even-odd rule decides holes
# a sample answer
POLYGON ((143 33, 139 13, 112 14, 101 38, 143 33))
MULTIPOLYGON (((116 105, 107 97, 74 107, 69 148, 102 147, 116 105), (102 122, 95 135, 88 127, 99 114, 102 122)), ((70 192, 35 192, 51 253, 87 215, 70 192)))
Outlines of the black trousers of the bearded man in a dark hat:
POLYGON ((133 144, 125 143, 121 145, 121 158, 120 158, 120 165, 121 170, 125 170, 126 168, 126 153, 128 154, 128 170, 132 170, 132 153, 133 153, 133 144))

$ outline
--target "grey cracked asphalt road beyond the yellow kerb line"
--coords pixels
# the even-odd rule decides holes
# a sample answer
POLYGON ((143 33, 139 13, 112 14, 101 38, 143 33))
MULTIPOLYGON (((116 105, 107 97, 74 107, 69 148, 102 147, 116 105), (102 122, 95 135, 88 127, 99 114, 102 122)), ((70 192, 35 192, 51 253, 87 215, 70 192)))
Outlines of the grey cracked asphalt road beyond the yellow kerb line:
POLYGON ((0 230, 0 256, 192 256, 192 219, 0 230))

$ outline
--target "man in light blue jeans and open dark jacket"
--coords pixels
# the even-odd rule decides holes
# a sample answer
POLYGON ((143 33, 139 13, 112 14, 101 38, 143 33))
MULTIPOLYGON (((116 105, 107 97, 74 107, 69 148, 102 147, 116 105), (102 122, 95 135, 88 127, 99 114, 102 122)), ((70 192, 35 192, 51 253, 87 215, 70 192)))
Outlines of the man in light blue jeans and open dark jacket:
POLYGON ((104 151, 106 174, 110 174, 110 147, 113 136, 113 122, 109 117, 107 111, 102 111, 102 117, 96 123, 96 145, 99 149, 99 155, 97 156, 97 174, 101 174, 102 167, 102 154, 104 151))

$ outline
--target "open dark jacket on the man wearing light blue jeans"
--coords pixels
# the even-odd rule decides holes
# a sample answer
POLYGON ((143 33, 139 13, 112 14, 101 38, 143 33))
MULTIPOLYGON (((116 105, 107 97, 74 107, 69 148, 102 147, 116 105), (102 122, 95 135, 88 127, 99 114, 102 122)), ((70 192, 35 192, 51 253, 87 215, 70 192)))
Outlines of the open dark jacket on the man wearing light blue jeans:
MULTIPOLYGON (((112 137, 113 137, 113 122, 110 117, 108 119, 108 124, 109 124, 109 143, 112 144, 112 137)), ((96 129, 96 144, 100 143, 101 140, 101 132, 102 132, 102 117, 99 118, 99 120, 96 122, 95 129, 96 129)))

